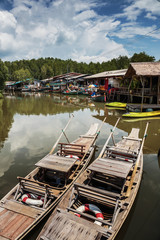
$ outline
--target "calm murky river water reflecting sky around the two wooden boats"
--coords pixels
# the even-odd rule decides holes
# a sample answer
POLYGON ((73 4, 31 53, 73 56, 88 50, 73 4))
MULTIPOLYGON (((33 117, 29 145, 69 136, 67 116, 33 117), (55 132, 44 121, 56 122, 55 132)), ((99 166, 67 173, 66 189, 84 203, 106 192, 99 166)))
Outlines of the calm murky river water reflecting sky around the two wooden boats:
MULTIPOLYGON (((34 164, 52 148, 71 114, 74 114, 66 135, 70 141, 84 134, 91 123, 101 125, 97 140, 102 149, 111 129, 124 110, 108 109, 104 103, 92 103, 88 97, 56 94, 6 95, 0 100, 0 198, 34 169, 34 164)), ((127 136, 132 127, 140 128, 143 137, 148 119, 121 118, 115 141, 127 136)), ((148 136, 144 145, 144 171, 134 206, 116 240, 159 240, 160 216, 160 118, 149 119, 148 136)), ((62 137, 61 141, 65 141, 62 137)), ((95 156, 95 157, 96 157, 95 156)), ((35 239, 39 230, 29 239, 35 239)))

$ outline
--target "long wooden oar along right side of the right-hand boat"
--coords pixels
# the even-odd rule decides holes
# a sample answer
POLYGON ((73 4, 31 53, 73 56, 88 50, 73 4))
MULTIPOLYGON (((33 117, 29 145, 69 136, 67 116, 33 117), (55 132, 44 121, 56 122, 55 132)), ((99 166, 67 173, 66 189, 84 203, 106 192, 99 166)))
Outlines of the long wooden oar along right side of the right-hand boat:
POLYGON ((140 147, 140 150, 139 150, 139 154, 138 154, 138 157, 137 157, 137 161, 136 161, 136 164, 135 164, 135 166, 134 166, 134 170, 133 170, 133 173, 132 173, 132 176, 131 176, 131 180, 130 180, 130 183, 129 183, 129 186, 128 186, 128 189, 127 189, 127 192, 126 192, 125 197, 129 197, 129 195, 130 195, 130 193, 131 193, 132 185, 133 185, 133 182, 134 182, 134 177, 135 177, 135 175, 136 175, 137 168, 138 168, 138 164, 139 164, 139 160, 140 160, 141 155, 142 155, 142 150, 143 150, 144 141, 145 141, 145 139, 146 139, 146 137, 147 137, 148 126, 149 126, 149 122, 147 122, 147 124, 146 124, 146 128, 145 128, 145 132, 144 132, 142 144, 141 144, 141 147, 140 147))

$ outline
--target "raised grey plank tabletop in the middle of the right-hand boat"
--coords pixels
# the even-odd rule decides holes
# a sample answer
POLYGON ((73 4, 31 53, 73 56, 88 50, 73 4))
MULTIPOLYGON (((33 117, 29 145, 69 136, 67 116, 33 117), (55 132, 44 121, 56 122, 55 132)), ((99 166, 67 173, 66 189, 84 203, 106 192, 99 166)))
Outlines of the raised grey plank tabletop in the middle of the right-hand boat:
POLYGON ((103 174, 126 178, 131 167, 132 163, 129 162, 99 158, 96 159, 88 169, 103 174))

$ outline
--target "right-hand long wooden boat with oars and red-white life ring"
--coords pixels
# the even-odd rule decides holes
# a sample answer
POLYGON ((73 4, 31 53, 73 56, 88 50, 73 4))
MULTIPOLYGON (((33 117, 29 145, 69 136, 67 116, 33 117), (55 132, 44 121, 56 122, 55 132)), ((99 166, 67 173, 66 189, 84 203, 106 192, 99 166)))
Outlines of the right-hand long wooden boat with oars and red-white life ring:
POLYGON ((143 139, 138 137, 139 129, 133 128, 128 137, 109 146, 114 127, 99 157, 58 204, 37 240, 116 237, 141 182, 147 128, 148 123, 143 139))

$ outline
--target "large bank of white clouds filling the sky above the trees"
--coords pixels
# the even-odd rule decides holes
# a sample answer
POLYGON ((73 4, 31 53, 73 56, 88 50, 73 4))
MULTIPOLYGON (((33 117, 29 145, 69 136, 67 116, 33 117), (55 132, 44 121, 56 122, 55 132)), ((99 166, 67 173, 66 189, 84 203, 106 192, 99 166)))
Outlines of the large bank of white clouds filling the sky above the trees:
POLYGON ((139 26, 136 20, 144 10, 145 17, 154 20, 160 12, 157 10, 160 3, 143 1, 130 1, 123 13, 109 17, 95 11, 100 5, 96 0, 14 0, 10 12, 0 12, 0 49, 3 53, 7 46, 8 53, 12 49, 10 57, 8 54, 1 57, 3 60, 57 57, 102 62, 118 54, 128 55, 124 46, 110 36, 131 38, 153 29, 139 26), (122 17, 135 26, 122 25, 117 20, 122 17))

